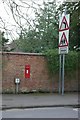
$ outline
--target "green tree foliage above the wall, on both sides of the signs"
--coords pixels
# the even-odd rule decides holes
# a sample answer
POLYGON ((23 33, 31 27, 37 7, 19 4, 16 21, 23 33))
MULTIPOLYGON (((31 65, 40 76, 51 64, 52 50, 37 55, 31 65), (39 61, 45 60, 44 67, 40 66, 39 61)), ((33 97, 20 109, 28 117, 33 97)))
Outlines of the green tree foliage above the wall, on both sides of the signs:
POLYGON ((15 41, 16 47, 23 52, 44 52, 58 47, 59 40, 59 14, 67 9, 70 14, 70 31, 69 31, 69 49, 73 50, 74 46, 80 46, 80 2, 64 2, 56 7, 55 2, 44 2, 44 7, 35 11, 34 26, 25 28, 20 38, 15 41))

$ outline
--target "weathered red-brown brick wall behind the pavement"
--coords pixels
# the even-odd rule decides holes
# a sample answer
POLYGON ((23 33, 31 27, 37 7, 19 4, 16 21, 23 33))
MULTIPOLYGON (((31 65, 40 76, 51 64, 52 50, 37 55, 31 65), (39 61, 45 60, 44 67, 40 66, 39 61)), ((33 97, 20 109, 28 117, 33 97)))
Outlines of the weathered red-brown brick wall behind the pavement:
MULTIPOLYGON (((15 78, 20 78, 19 92, 58 91, 59 73, 51 77, 46 57, 41 54, 3 53, 2 91, 14 92, 15 78), (25 78, 25 65, 30 65, 30 78, 25 78)), ((65 76, 65 91, 77 91, 77 72, 73 79, 65 76)))

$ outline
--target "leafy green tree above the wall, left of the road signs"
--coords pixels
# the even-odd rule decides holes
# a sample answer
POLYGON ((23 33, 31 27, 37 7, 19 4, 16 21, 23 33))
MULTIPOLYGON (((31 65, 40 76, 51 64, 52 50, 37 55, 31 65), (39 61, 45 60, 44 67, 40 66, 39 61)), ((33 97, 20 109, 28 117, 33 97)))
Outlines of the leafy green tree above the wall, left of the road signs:
POLYGON ((24 52, 43 52, 58 46, 58 25, 55 2, 44 2, 44 8, 35 12, 34 29, 21 32, 18 47, 24 52))

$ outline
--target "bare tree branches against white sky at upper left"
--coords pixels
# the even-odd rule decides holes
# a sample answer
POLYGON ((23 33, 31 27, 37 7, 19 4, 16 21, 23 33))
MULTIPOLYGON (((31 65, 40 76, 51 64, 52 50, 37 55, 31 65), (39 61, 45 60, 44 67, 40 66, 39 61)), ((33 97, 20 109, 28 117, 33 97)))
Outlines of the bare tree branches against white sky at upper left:
MULTIPOLYGON (((5 31, 11 40, 15 36, 19 37, 20 31, 25 31, 29 27, 33 29, 34 11, 41 7, 40 3, 34 0, 1 0, 6 19, 0 16, 0 29, 5 31)), ((17 37, 16 37, 17 38, 17 37)))

